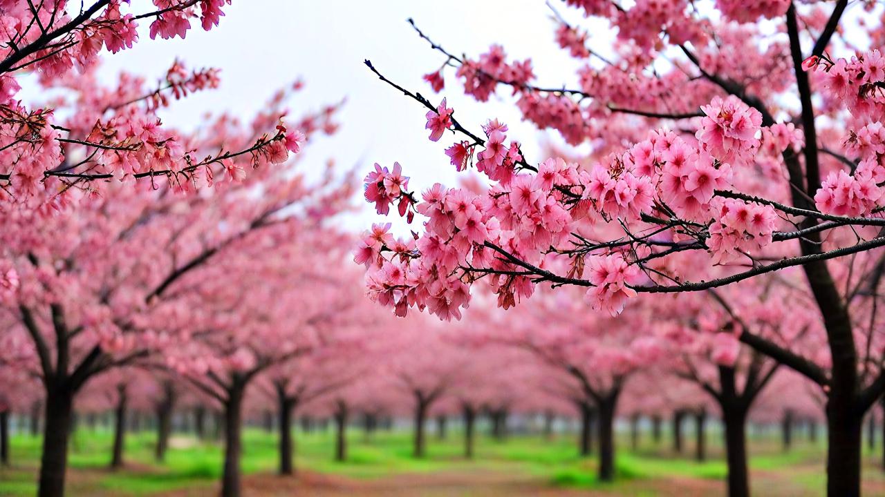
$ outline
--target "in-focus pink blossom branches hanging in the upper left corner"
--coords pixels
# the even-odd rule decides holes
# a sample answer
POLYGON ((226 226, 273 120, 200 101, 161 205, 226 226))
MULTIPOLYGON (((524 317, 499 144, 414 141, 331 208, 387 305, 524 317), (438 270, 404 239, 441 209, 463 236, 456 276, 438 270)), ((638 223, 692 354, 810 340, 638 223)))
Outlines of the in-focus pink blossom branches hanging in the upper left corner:
POLYGON ((0 209, 59 209, 65 191, 96 190, 95 180, 169 181, 193 189, 241 157, 254 166, 284 158, 296 132, 270 128, 242 149, 198 150, 163 126, 154 111, 189 93, 215 88, 218 71, 189 71, 176 62, 158 88, 125 77, 119 88, 52 108, 29 108, 15 98, 21 75, 34 72, 46 90, 75 92, 96 85, 92 74, 103 50, 117 53, 138 40, 139 22, 150 37, 184 38, 192 19, 204 29, 219 23, 229 0, 156 0, 91 4, 65 0, 8 0, 0 7, 0 209), (124 13, 125 11, 130 11, 124 13), (61 119, 59 116, 71 115, 61 119))

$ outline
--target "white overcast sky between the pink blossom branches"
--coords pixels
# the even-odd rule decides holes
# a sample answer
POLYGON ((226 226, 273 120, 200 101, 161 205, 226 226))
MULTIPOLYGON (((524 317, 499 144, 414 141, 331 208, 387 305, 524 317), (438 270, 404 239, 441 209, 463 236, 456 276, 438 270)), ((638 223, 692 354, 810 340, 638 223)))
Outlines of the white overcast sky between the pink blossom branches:
MULTIPOLYGON (((554 4, 570 19, 581 19, 565 4, 554 4)), ((377 80, 363 65, 365 58, 389 79, 434 103, 447 96, 458 120, 474 133, 481 133, 486 119, 503 120, 511 127, 510 137, 525 144, 529 160, 544 158, 536 156, 543 135, 519 122, 504 88, 492 102, 476 103, 464 95, 449 69, 447 88, 433 95, 421 77, 441 65, 444 57, 419 39, 405 19, 415 19, 426 34, 456 54, 476 57, 497 42, 509 57, 532 57, 544 85, 567 82, 574 86, 578 66, 558 50, 550 9, 541 0, 235 0, 226 12, 219 27, 206 33, 197 22, 183 41, 151 41, 149 23, 143 23, 141 41, 132 50, 105 57, 102 71, 113 80, 122 70, 153 80, 165 73, 175 57, 191 68, 219 67, 218 90, 189 96, 163 111, 166 124, 184 129, 199 126, 206 111, 229 111, 250 119, 277 88, 302 76, 306 88, 294 101, 294 114, 348 99, 339 115, 341 131, 312 143, 305 151, 309 160, 302 164, 319 170, 328 157, 334 157, 342 171, 358 165, 358 171, 365 174, 375 162, 390 166, 399 161, 416 191, 435 181, 456 183, 454 167, 443 153, 455 141, 454 135, 429 141, 424 129, 426 110, 377 80)), ((586 21, 581 24, 588 26, 586 21)), ((365 213, 348 226, 363 229, 378 218, 363 204, 365 213)))

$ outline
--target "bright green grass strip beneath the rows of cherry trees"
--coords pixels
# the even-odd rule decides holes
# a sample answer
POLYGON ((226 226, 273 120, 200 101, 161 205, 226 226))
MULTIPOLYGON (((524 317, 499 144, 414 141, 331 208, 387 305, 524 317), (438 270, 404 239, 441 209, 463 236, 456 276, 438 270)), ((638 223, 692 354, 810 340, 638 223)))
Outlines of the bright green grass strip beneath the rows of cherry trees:
MULTIPOLYGON (((709 460, 696 463, 691 459, 693 443, 687 438, 686 454, 673 456, 665 448, 651 447, 650 442, 633 453, 627 440, 619 440, 617 455, 618 482, 602 484, 596 480, 594 458, 577 455, 573 435, 560 435, 553 440, 532 436, 513 436, 504 441, 478 437, 473 461, 462 457, 462 440, 458 432, 450 432, 447 440, 436 440, 429 434, 427 457, 412 457, 409 432, 377 432, 366 440, 358 430, 350 431, 348 460, 334 461, 334 438, 329 432, 298 432, 296 435, 296 467, 349 478, 383 478, 403 473, 438 471, 509 471, 529 475, 552 486, 578 486, 617 489, 625 482, 643 478, 713 478, 727 474, 722 460, 718 434, 711 433, 709 460)), ((278 462, 277 439, 274 434, 258 429, 245 430, 243 435, 242 470, 245 473, 272 473, 278 462)), ((127 434, 127 468, 107 470, 111 456, 110 432, 76 432, 69 456, 72 473, 71 494, 147 496, 183 487, 211 486, 220 477, 222 447, 215 442, 198 442, 186 435, 176 435, 165 463, 153 461, 154 434, 127 434)), ((750 466, 759 470, 791 470, 797 464, 823 461, 823 443, 812 446, 797 443, 787 454, 776 440, 752 440, 750 466)), ((33 495, 35 473, 40 454, 40 440, 28 435, 12 437, 11 469, 0 470, 0 496, 33 495)), ((873 457, 874 455, 869 455, 873 457)), ((797 474, 796 479, 812 491, 820 489, 820 470, 797 474)))

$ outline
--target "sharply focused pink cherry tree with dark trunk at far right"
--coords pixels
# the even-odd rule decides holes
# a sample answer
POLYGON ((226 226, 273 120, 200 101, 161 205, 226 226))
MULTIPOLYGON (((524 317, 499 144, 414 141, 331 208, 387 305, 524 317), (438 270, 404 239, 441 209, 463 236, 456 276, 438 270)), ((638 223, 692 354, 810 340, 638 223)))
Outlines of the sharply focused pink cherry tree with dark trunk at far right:
MULTIPOLYGON (((435 106, 366 61, 427 108, 431 140, 456 134, 452 165, 489 180, 419 195, 399 164, 376 165, 366 199, 424 220, 413 238, 383 225, 366 233, 356 260, 369 294, 398 315, 412 307, 445 319, 461 316, 477 282, 505 309, 545 284, 584 287, 587 305, 612 315, 639 294, 699 291, 730 310, 720 287, 799 267, 825 360, 753 333, 739 313, 727 331, 820 385, 828 493, 857 495, 860 421, 885 392, 870 303, 885 246, 881 52, 843 35, 843 0, 566 4, 617 28, 610 50, 589 48, 596 40, 557 15, 558 43, 581 61, 576 89, 536 85, 531 61, 508 62, 499 46, 458 57, 418 34, 444 57, 425 76, 435 91, 448 67, 477 101, 507 87, 524 119, 589 143, 583 162, 563 150, 527 164, 503 123, 474 133, 445 100, 435 106)), ((881 40, 880 28, 864 29, 881 40)))

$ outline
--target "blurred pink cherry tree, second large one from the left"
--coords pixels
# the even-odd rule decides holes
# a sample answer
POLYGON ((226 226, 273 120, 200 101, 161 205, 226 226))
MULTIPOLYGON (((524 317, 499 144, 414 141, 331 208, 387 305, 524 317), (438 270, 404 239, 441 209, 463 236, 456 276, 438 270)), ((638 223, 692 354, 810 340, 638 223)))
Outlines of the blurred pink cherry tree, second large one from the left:
POLYGON ((341 264, 348 247, 348 237, 323 226, 337 212, 290 215, 285 225, 228 253, 225 264, 204 266, 206 274, 178 284, 177 298, 192 302, 188 312, 175 311, 165 323, 180 326, 191 340, 167 351, 165 363, 223 406, 226 497, 242 493, 247 388, 273 366, 320 347, 329 330, 353 323, 343 312, 353 305, 352 294, 340 291, 352 277, 342 280, 322 269, 341 264))

